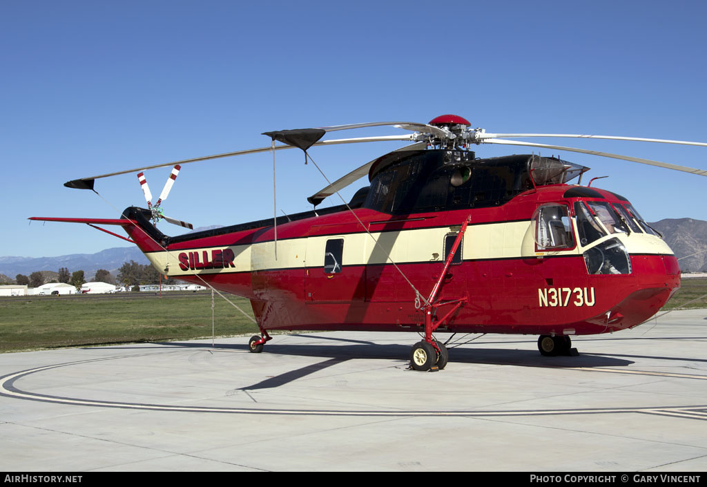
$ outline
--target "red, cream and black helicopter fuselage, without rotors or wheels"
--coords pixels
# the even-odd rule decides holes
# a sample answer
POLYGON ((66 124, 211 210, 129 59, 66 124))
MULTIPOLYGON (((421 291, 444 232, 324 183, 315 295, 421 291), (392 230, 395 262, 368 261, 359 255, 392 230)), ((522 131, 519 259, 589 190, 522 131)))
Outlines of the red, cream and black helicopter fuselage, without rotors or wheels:
POLYGON ((428 297, 439 283, 437 302, 460 305, 436 331, 606 333, 643 323, 679 288, 672 251, 624 197, 533 185, 533 161, 564 161, 510 156, 446 166, 448 153, 413 151, 374 166, 370 190, 351 210, 282 217, 276 241, 272 220, 165 237, 136 208, 124 213, 136 225, 124 228, 160 272, 250 299, 262 330, 424 333, 417 293, 428 297), (511 162, 529 170, 518 176, 511 162), (411 166, 426 165, 433 168, 411 182, 411 166), (468 180, 451 185, 460 173, 468 180), (498 176, 526 179, 515 190, 499 181, 492 188, 498 176))

